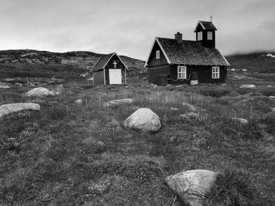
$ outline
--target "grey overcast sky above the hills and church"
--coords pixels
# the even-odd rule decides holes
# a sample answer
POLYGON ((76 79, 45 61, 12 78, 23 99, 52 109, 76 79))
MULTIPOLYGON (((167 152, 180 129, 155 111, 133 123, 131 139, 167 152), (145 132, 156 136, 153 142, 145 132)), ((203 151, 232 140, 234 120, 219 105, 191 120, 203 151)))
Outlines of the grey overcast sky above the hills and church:
POLYGON ((274 0, 0 0, 0 50, 117 52, 146 60, 155 36, 217 27, 223 55, 275 50, 274 0))

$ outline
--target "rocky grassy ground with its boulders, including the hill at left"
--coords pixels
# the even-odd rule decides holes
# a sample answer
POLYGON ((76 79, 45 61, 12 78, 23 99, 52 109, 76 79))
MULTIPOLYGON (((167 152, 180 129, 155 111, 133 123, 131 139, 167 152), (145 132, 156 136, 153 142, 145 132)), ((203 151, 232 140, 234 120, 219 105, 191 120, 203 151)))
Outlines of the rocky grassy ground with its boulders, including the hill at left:
POLYGON ((0 205, 274 204, 274 74, 95 87, 98 56, 0 51, 0 205))

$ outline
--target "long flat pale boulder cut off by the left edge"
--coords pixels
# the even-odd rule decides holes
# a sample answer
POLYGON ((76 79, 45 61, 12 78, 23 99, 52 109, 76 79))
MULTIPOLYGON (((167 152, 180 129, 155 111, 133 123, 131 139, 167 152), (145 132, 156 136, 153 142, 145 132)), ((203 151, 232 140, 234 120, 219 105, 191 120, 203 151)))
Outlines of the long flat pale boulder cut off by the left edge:
POLYGON ((10 113, 16 113, 24 110, 39 111, 40 105, 34 103, 3 104, 0 106, 0 118, 5 115, 9 115, 10 113))

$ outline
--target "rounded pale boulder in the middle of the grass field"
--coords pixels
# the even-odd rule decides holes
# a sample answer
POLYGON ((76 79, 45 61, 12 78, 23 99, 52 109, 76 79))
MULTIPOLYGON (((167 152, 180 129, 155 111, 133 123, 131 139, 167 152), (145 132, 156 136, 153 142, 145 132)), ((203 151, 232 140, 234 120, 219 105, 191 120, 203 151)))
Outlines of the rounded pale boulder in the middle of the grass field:
POLYGON ((155 133, 161 127, 159 116, 150 108, 139 108, 123 122, 125 128, 155 133))

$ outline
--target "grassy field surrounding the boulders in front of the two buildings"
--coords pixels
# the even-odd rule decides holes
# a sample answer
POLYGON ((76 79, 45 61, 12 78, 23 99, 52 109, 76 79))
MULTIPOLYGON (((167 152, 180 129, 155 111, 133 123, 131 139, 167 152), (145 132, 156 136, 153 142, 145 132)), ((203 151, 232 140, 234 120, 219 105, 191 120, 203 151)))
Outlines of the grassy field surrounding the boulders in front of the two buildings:
POLYGON ((40 112, 0 119, 0 205, 182 205, 164 178, 193 169, 234 172, 234 182, 245 185, 221 183, 223 192, 213 189, 206 205, 274 204, 272 88, 93 87, 76 82, 64 84, 56 97, 25 98, 29 89, 0 90, 0 105, 41 105, 40 112), (102 106, 122 98, 134 102, 102 106), (74 104, 77 99, 84 104, 74 104), (142 107, 159 115, 157 133, 122 128, 124 119, 142 107))

